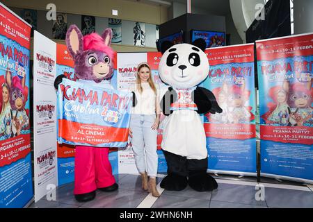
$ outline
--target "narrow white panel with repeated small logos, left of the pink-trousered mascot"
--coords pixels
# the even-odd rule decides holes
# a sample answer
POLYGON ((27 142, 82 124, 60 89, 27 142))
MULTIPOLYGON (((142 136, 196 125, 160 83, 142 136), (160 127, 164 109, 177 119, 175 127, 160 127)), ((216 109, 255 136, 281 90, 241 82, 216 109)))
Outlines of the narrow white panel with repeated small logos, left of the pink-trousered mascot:
POLYGON ((34 31, 33 137, 35 202, 58 185, 56 155, 56 43, 34 31))

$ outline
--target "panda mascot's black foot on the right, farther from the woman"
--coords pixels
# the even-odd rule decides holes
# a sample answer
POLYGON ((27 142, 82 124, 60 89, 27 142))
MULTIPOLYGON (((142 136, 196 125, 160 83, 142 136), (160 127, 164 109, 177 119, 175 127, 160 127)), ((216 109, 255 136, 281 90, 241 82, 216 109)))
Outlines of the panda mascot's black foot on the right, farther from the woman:
POLYGON ((196 191, 213 191, 218 188, 216 180, 209 173, 194 173, 188 178, 189 186, 196 191))

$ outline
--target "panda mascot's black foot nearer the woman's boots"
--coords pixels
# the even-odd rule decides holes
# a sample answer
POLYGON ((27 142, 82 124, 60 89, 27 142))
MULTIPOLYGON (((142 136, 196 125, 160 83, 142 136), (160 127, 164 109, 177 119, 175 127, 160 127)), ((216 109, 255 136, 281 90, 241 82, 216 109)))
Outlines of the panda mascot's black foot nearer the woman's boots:
POLYGON ((185 176, 179 176, 177 174, 168 174, 161 181, 160 187, 170 191, 181 191, 187 187, 188 180, 185 176))

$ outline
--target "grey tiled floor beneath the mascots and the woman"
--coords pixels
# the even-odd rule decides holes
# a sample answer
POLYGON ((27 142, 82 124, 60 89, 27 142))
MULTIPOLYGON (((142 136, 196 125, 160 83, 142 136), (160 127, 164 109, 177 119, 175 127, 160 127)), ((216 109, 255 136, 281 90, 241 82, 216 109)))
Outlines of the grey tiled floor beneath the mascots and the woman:
MULTIPOLYGON (((152 207, 152 208, 266 208, 300 207, 313 208, 312 186, 295 182, 275 182, 262 180, 265 200, 256 200, 258 190, 255 178, 218 177, 218 189, 213 192, 197 192, 186 187, 184 191, 159 191, 161 196, 154 198, 141 189, 141 178, 136 175, 120 174, 115 177, 120 188, 112 193, 97 191, 95 200, 79 203, 72 194, 74 185, 58 187, 56 201, 42 198, 30 207, 39 208, 95 208, 95 207, 152 207)), ((158 178, 157 182, 161 182, 158 178)))

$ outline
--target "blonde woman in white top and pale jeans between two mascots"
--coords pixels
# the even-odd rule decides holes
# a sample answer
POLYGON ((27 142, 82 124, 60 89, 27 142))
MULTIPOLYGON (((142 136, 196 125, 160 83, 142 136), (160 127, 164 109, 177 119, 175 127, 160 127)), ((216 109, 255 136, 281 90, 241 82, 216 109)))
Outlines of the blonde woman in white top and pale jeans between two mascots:
POLYGON ((159 197, 157 191, 157 130, 160 121, 159 87, 153 83, 151 69, 143 62, 137 67, 136 85, 131 91, 136 95, 136 105, 131 110, 129 134, 142 188, 159 197), (148 181, 149 176, 149 181, 148 181))

